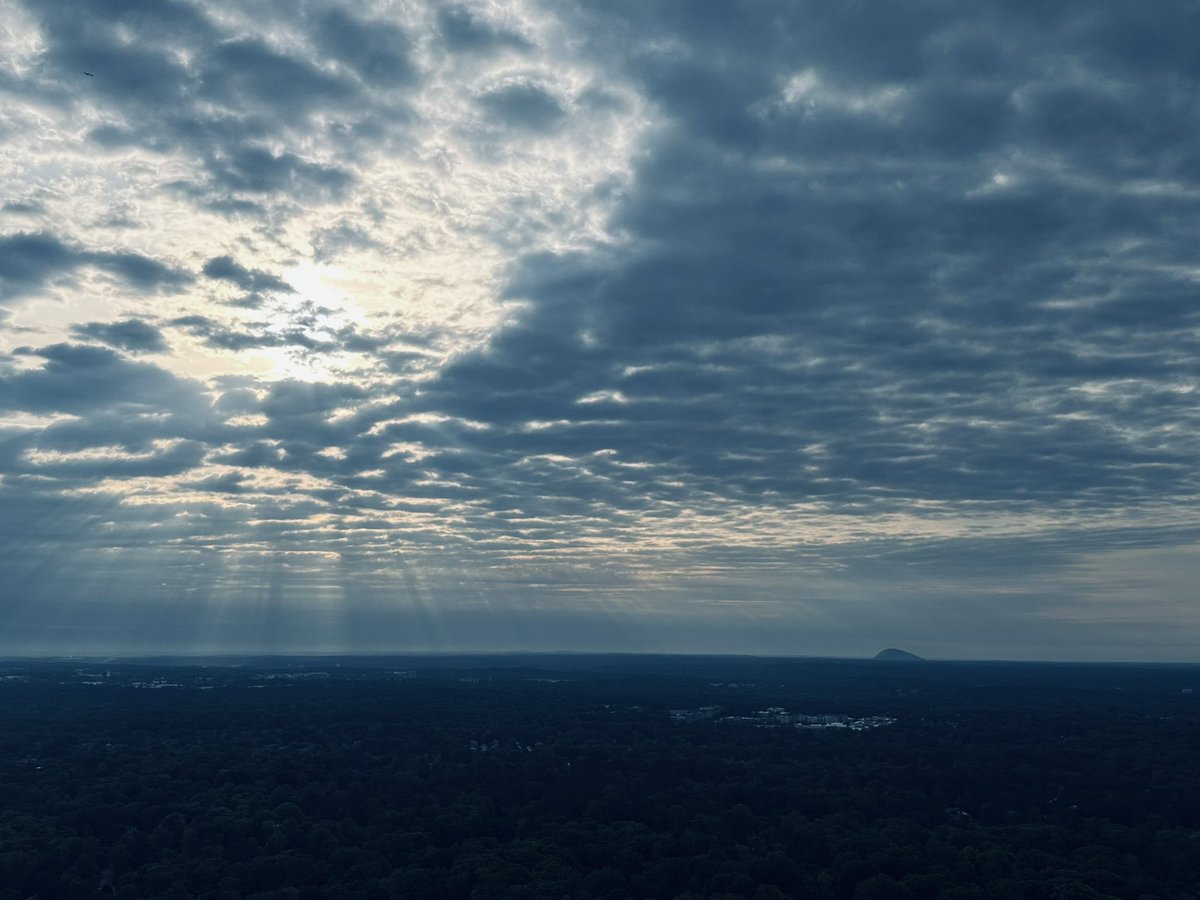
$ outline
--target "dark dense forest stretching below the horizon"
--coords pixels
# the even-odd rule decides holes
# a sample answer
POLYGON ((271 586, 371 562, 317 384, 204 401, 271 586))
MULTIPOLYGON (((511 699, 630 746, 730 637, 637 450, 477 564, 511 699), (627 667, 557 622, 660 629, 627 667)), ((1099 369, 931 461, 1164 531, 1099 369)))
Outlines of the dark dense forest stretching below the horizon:
POLYGON ((1200 890, 1194 670, 457 665, 0 666, 0 900, 1200 890))

